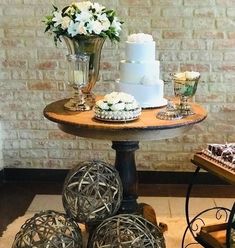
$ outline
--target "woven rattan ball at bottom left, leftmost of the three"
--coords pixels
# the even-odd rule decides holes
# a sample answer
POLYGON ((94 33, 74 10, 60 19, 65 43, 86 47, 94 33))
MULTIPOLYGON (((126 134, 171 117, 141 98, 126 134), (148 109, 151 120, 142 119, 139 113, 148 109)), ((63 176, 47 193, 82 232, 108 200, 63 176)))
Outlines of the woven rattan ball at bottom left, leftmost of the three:
POLYGON ((28 219, 16 234, 12 248, 82 248, 81 230, 74 220, 52 210, 28 219))

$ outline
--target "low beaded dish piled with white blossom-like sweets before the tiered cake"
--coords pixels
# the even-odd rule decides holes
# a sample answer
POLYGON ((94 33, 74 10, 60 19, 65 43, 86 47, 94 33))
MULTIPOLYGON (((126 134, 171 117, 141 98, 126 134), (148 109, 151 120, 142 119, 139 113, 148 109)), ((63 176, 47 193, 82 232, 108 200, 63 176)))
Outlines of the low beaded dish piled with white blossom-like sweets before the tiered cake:
POLYGON ((95 118, 107 121, 130 121, 141 114, 141 107, 132 95, 112 92, 95 104, 95 118))

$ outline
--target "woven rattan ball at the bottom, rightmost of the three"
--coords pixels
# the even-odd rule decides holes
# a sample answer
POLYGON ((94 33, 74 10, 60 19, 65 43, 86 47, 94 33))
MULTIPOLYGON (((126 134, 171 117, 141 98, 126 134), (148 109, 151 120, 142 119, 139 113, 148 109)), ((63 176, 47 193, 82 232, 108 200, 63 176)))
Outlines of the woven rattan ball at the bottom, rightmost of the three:
POLYGON ((89 248, 165 248, 161 230, 139 215, 120 214, 103 221, 94 231, 89 248))

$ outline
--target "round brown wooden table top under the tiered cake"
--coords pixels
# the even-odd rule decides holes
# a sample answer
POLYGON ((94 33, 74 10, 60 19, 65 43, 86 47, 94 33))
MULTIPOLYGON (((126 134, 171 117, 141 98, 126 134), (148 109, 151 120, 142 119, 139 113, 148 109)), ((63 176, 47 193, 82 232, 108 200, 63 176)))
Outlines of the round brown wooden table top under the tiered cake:
POLYGON ((161 109, 144 109, 138 120, 131 122, 104 122, 94 118, 94 112, 70 112, 64 109, 68 99, 59 100, 47 105, 44 116, 58 124, 66 132, 80 137, 108 139, 112 141, 159 140, 181 135, 203 121, 206 110, 199 104, 192 103, 194 115, 181 120, 159 120, 156 114, 161 109))

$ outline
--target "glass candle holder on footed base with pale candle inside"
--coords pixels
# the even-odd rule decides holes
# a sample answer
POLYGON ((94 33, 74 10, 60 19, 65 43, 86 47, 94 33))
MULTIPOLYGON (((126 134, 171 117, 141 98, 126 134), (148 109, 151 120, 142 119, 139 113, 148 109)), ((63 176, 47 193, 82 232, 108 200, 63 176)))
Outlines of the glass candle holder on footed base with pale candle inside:
POLYGON ((64 107, 70 111, 86 111, 91 107, 86 103, 82 88, 88 83, 89 56, 85 53, 69 54, 68 84, 73 88, 73 96, 65 103, 64 107))

